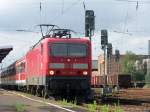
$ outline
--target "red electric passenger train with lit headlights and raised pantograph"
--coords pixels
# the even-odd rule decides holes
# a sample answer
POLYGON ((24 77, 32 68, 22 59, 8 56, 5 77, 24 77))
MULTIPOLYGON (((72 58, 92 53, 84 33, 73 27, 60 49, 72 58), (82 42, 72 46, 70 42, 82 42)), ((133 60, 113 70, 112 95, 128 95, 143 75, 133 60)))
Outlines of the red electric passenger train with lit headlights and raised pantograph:
POLYGON ((88 97, 92 71, 90 40, 71 38, 68 29, 42 26, 52 28, 24 57, 2 70, 1 86, 38 96, 88 97))

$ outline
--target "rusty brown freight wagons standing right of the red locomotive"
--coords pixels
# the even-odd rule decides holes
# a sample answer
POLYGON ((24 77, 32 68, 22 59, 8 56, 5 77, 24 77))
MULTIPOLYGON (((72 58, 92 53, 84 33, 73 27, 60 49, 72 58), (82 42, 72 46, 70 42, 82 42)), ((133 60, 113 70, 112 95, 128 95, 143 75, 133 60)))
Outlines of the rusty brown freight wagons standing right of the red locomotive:
POLYGON ((106 76, 92 74, 91 87, 103 88, 105 85, 107 85, 112 88, 130 88, 132 87, 131 81, 131 74, 109 74, 106 76))

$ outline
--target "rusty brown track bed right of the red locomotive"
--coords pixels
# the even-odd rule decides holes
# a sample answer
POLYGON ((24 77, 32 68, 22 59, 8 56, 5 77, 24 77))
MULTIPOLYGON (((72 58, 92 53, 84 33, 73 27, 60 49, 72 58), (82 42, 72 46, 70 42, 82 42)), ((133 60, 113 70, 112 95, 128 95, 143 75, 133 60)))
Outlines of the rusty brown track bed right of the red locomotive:
POLYGON ((100 91, 94 94, 94 100, 97 103, 111 104, 129 104, 129 105, 149 105, 150 106, 150 89, 130 88, 119 90, 112 93, 112 95, 102 96, 100 91))

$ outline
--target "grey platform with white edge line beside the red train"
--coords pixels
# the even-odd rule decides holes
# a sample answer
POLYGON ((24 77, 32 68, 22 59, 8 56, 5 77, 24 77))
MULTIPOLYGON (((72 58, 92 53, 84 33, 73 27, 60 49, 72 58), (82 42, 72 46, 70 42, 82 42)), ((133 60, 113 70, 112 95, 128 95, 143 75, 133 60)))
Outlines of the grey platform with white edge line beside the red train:
POLYGON ((0 89, 0 112, 75 112, 41 99, 0 89))

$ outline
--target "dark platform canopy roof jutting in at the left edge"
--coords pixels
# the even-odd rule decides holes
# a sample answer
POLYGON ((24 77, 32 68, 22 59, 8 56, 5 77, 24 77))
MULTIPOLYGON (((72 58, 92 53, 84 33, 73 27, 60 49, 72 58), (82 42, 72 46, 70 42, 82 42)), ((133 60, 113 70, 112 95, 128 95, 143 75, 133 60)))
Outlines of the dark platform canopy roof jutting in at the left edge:
POLYGON ((2 60, 9 54, 9 52, 13 49, 12 46, 1 46, 0 47, 0 63, 2 60))

